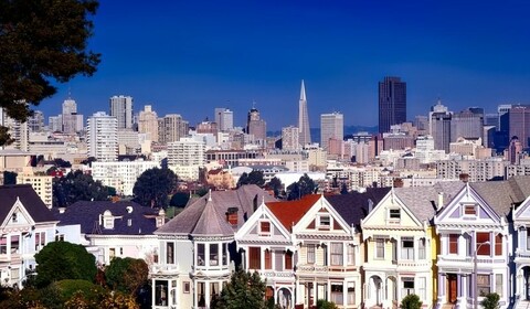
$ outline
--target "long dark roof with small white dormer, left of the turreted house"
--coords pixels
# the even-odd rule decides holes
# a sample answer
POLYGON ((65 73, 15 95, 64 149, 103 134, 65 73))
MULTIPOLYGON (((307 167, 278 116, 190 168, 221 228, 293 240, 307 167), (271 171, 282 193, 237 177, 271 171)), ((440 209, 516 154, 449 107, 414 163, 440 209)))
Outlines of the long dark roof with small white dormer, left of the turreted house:
POLYGON ((63 213, 60 209, 53 209, 53 213, 60 221, 59 225, 80 224, 83 234, 149 235, 157 230, 156 216, 159 210, 145 207, 135 202, 78 201, 66 207, 63 213), (104 228, 103 224, 99 224, 99 216, 107 210, 113 216, 117 216, 114 220, 114 228, 104 228))

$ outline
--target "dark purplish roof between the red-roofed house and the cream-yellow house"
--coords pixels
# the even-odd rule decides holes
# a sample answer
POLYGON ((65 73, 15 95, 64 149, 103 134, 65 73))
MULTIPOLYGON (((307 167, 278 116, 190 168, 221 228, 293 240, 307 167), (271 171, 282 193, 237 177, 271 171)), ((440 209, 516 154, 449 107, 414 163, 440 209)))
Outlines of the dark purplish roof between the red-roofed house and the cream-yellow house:
POLYGON ((342 216, 348 225, 358 226, 368 214, 369 200, 375 206, 389 193, 390 188, 368 188, 365 192, 326 195, 326 200, 342 216))

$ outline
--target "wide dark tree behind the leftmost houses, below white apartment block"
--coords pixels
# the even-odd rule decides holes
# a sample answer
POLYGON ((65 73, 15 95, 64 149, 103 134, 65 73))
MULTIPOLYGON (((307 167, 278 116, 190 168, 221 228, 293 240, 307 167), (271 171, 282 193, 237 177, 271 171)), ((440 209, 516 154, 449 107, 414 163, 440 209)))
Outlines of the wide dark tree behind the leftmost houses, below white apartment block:
POLYGON ((67 173, 53 180, 53 205, 70 206, 77 201, 107 201, 109 189, 82 171, 67 173))

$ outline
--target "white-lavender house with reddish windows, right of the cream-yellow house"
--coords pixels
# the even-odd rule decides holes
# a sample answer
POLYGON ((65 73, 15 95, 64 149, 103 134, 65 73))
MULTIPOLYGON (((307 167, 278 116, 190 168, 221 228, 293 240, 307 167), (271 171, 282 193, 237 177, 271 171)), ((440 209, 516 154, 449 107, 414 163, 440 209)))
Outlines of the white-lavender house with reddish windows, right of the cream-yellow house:
POLYGON ((437 306, 479 306, 497 292, 500 308, 512 305, 510 231, 512 201, 521 199, 509 181, 465 182, 435 216, 439 237, 437 306))

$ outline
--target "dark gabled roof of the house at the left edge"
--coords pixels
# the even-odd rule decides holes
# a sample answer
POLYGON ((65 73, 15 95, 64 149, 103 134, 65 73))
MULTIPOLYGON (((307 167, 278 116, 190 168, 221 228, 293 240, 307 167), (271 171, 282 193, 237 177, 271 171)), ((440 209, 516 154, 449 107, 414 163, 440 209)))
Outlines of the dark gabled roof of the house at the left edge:
POLYGON ((31 184, 0 185, 0 221, 6 219, 17 200, 20 200, 35 223, 56 221, 31 184))

